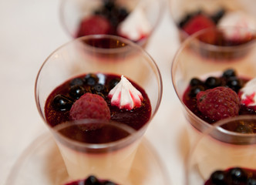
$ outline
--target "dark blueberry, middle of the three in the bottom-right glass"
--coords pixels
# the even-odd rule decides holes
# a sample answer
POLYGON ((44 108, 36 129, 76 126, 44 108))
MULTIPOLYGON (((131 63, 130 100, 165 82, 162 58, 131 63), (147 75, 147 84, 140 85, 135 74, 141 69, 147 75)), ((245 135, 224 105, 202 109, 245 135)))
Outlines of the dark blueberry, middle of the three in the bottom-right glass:
POLYGON ((232 184, 246 183, 247 181, 247 174, 239 167, 228 170, 227 177, 232 184))

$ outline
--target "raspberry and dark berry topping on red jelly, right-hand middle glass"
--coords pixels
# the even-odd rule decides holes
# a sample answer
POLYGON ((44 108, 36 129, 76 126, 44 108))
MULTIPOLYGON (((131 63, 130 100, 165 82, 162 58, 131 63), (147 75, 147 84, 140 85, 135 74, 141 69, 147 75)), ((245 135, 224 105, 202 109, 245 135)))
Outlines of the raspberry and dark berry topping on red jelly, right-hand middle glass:
POLYGON ((251 96, 244 99, 245 102, 240 99, 241 89, 248 81, 247 78, 237 76, 234 69, 225 70, 221 76, 209 76, 206 79, 194 77, 184 92, 183 101, 187 108, 207 123, 215 123, 218 119, 230 116, 256 114, 254 106, 246 106, 245 103, 250 102, 248 98, 251 96))

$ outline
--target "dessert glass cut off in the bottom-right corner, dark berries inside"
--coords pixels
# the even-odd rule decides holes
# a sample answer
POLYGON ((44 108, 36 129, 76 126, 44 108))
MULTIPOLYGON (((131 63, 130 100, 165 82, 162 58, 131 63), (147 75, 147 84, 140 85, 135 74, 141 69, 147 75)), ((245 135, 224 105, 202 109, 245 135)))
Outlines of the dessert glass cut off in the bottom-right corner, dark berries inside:
POLYGON ((199 137, 186 161, 186 185, 255 184, 256 116, 222 119, 199 137))

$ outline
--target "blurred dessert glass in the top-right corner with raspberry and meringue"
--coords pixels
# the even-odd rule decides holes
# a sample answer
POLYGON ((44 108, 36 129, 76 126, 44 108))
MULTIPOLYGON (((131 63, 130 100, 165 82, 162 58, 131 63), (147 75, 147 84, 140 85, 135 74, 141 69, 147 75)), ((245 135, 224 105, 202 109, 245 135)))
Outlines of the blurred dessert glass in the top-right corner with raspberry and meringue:
POLYGON ((237 26, 256 29, 253 0, 169 0, 180 42, 202 29, 237 26))

